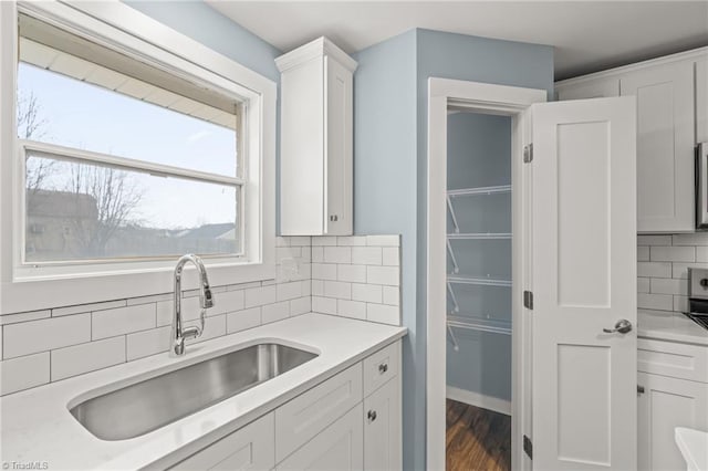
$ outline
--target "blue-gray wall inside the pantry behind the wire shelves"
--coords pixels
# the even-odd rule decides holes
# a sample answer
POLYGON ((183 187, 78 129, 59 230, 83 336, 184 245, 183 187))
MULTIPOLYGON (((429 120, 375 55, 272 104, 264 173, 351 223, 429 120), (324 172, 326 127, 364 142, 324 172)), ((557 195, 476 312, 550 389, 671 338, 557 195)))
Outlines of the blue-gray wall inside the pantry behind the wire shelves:
MULTIPOLYGON (((448 115, 448 190, 511 184, 511 118, 473 113, 448 115)), ((511 232, 511 193, 452 199, 460 232, 511 232)), ((448 212, 448 233, 454 232, 448 212)), ((511 280, 511 240, 451 240, 460 275, 511 280)), ((448 255, 448 273, 452 272, 448 255)), ((511 323, 511 289, 455 284, 456 316, 511 323)), ((448 299, 448 312, 454 303, 448 299)), ((511 325, 511 324, 509 324, 511 325)), ((511 336, 452 328, 447 344, 447 385, 511 400, 511 336)))

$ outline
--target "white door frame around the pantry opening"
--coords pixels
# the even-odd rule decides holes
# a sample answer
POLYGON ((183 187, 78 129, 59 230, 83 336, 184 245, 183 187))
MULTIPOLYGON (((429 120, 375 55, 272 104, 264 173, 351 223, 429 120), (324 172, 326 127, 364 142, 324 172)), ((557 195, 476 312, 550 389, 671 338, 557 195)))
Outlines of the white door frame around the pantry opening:
POLYGON ((447 362, 447 115, 448 109, 510 116, 512 185, 512 334, 511 334, 511 469, 531 469, 524 459, 523 436, 531 435, 530 320, 523 314, 523 290, 530 289, 530 244, 523 195, 530 176, 523 171, 523 146, 530 142, 527 109, 546 102, 548 92, 450 78, 428 78, 428 181, 426 281, 426 461, 429 470, 445 469, 447 362), (525 321, 525 322, 524 322, 525 321), (527 355, 524 355, 524 353, 527 355), (524 358, 528 367, 524 367, 524 358))

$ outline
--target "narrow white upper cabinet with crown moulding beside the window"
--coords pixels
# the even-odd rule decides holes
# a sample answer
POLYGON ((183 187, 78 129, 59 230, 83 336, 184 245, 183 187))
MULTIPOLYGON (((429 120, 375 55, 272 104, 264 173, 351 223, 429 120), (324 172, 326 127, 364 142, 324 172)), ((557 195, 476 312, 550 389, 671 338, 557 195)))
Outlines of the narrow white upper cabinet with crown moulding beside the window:
POLYGON ((281 233, 351 234, 357 64, 326 38, 275 63, 281 72, 281 233))

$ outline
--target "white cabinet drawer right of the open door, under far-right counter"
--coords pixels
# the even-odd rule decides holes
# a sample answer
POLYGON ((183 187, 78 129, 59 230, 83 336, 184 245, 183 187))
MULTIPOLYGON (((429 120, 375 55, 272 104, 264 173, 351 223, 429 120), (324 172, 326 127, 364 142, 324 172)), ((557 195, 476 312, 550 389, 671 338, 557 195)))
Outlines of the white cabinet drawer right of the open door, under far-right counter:
POLYGON ((708 347, 639 338, 637 369, 708 383, 708 347))

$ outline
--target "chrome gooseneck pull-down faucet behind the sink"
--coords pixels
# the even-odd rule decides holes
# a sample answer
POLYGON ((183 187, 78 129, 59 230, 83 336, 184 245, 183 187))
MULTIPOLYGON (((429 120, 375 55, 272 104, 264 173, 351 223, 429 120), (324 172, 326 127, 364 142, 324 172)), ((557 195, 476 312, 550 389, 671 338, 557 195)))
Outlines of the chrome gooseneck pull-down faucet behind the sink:
POLYGON ((173 345, 169 350, 169 356, 181 356, 185 354, 185 341, 188 338, 197 338, 204 332, 205 315, 209 307, 214 306, 214 297, 211 295, 211 289, 209 287, 209 279, 207 278, 207 269, 204 268, 201 259, 192 253, 183 255, 177 261, 175 266, 175 315, 173 316, 171 339, 173 345), (183 328, 181 326, 181 271, 187 262, 191 262, 197 266, 197 274, 199 276, 199 305, 201 313, 199 321, 200 327, 191 326, 183 328))

